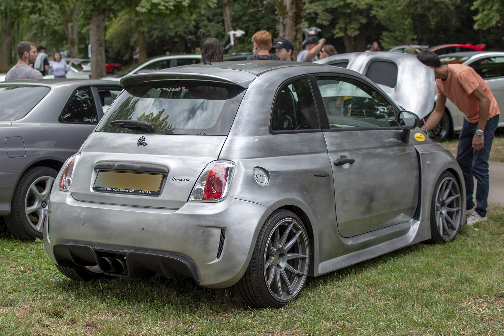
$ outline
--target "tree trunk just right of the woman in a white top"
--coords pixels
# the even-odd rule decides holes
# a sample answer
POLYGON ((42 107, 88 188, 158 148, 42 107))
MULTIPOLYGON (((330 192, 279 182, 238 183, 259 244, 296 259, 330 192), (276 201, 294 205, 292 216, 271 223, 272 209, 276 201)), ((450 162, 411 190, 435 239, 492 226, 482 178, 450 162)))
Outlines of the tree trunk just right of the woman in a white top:
POLYGON ((89 43, 91 44, 91 78, 102 78, 105 70, 105 9, 91 12, 89 23, 89 43))

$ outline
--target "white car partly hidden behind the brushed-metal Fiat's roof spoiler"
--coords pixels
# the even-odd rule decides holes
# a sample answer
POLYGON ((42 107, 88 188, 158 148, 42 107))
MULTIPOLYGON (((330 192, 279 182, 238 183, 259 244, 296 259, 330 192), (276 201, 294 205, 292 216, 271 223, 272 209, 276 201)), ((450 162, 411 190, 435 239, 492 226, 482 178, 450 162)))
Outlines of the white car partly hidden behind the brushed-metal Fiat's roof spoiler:
MULTIPOLYGON (((142 63, 136 64, 131 70, 121 76, 109 76, 102 79, 107 81, 120 81, 123 76, 133 74, 152 73, 156 70, 174 68, 175 66, 197 64, 201 60, 201 55, 170 55, 149 58, 142 63)), ((89 66, 91 71, 91 66, 89 66)))

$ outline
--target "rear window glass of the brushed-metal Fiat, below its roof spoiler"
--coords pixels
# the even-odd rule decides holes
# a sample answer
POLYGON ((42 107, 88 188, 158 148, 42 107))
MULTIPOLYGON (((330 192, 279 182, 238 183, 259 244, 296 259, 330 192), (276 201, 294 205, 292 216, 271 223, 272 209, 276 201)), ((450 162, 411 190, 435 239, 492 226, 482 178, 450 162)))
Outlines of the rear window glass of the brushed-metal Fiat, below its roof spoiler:
POLYGON ((97 129, 113 133, 146 133, 118 127, 114 120, 147 121, 156 134, 228 135, 244 90, 203 81, 159 81, 132 85, 108 109, 97 129))

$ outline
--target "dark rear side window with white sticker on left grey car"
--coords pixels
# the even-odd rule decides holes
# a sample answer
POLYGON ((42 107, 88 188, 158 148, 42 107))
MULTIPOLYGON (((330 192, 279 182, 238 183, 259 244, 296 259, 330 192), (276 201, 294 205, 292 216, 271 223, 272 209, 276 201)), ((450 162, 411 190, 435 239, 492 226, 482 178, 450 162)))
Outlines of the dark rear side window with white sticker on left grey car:
POLYGON ((98 123, 98 113, 90 88, 79 88, 72 93, 70 101, 61 113, 63 122, 98 123))

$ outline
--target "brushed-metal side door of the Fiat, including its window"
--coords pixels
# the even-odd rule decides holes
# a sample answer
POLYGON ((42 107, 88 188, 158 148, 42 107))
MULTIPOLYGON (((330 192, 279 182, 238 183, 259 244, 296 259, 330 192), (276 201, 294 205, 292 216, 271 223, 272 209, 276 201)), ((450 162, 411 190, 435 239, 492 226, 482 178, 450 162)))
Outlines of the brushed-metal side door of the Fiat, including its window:
POLYGON ((418 161, 413 144, 401 141, 395 107, 354 78, 316 75, 310 81, 333 169, 340 235, 411 220, 418 200, 418 161), (342 161, 347 159, 352 163, 342 161))

